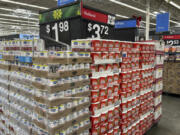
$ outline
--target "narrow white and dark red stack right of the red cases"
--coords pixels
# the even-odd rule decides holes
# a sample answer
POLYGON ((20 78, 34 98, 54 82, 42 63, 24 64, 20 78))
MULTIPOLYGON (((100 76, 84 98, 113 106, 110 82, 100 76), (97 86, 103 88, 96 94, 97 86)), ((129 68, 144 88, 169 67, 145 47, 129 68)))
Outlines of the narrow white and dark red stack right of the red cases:
POLYGON ((155 41, 155 71, 154 71, 154 121, 159 122, 162 115, 164 42, 155 41))

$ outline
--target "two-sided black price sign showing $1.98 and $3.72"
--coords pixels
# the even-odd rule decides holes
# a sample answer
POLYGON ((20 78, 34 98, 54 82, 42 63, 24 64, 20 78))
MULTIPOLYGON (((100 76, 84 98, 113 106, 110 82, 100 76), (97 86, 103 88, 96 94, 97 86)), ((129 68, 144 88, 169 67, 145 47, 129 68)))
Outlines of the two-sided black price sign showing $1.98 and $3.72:
POLYGON ((57 42, 71 44, 75 39, 113 39, 115 16, 82 8, 77 2, 40 14, 40 37, 46 48, 62 48, 57 42))

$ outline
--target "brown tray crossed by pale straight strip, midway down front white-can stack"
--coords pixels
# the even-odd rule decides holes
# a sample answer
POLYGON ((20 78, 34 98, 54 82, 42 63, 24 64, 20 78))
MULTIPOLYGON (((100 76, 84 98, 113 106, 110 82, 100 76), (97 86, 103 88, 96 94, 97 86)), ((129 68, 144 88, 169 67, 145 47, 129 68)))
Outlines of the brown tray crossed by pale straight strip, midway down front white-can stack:
POLYGON ((59 99, 54 99, 54 100, 48 100, 48 99, 45 99, 43 97, 34 96, 34 100, 36 102, 46 104, 49 107, 53 107, 53 106, 59 106, 61 104, 65 104, 65 103, 68 103, 68 102, 73 102, 73 101, 77 100, 78 98, 80 99, 80 98, 83 98, 83 97, 89 97, 90 94, 91 94, 90 91, 88 91, 88 92, 78 94, 77 97, 64 97, 64 98, 59 98, 59 99))

